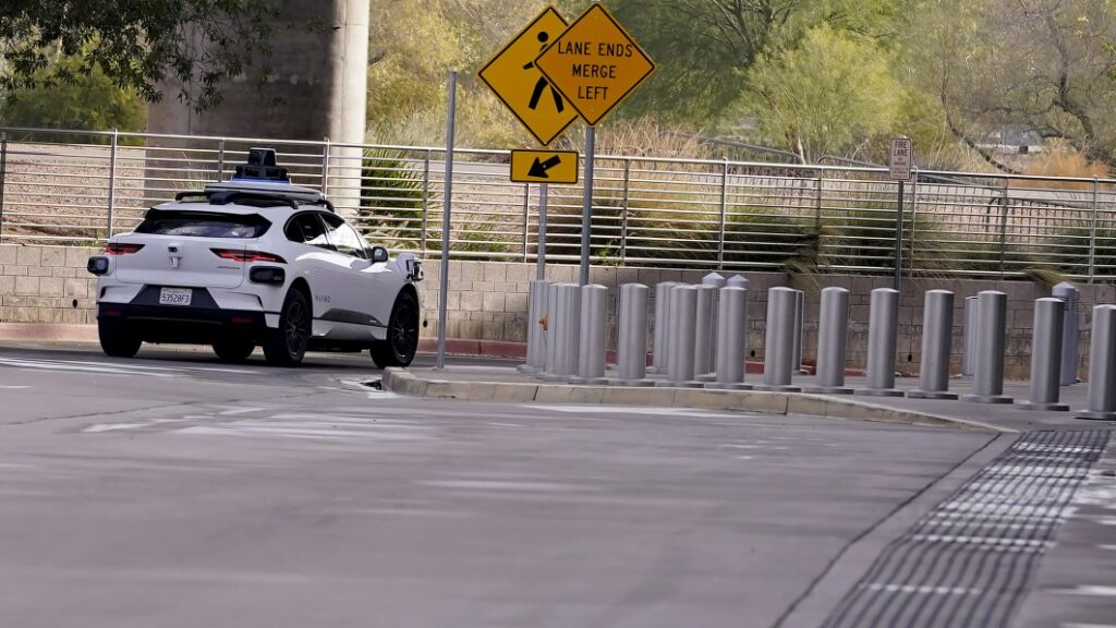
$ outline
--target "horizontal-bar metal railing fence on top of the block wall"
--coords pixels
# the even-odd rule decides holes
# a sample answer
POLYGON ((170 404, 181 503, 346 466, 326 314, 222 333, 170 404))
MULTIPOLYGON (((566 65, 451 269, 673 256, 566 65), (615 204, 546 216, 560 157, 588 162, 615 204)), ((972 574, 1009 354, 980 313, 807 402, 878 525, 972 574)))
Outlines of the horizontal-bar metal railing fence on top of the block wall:
MULTIPOLYGON (((151 206, 225 179, 271 146, 376 244, 440 255, 444 149, 0 129, 0 242, 103 244, 151 206)), ((533 261, 539 187, 507 151, 454 153, 454 258, 533 261)), ((897 185, 878 168, 598 155, 595 264, 892 273, 897 185)), ((551 185, 547 259, 576 263, 580 185, 551 185)), ((920 172, 903 207, 903 269, 1116 278, 1116 180, 920 172)))

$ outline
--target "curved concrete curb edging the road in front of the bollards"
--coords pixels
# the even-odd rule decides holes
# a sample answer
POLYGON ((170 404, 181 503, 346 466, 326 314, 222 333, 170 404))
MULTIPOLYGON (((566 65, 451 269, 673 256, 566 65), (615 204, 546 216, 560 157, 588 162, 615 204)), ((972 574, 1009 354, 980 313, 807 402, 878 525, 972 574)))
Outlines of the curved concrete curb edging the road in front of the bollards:
POLYGON ((385 390, 427 399, 503 401, 511 403, 603 403, 740 410, 764 415, 811 415, 862 421, 941 427, 977 431, 1013 431, 980 421, 926 412, 887 408, 852 399, 821 394, 760 392, 751 390, 705 390, 685 388, 623 388, 551 383, 461 382, 424 378, 414 371, 386 369, 385 390))

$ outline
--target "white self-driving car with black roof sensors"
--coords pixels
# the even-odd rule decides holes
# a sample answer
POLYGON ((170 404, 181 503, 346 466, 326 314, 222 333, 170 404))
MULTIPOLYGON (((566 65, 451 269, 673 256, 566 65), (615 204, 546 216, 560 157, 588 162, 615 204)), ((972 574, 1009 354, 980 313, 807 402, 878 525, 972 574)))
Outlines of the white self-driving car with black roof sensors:
POLYGON ((368 246, 318 191, 291 185, 275 151, 237 175, 150 209, 89 259, 100 346, 212 344, 222 360, 295 365, 307 350, 371 350, 405 367, 419 344, 422 264, 368 246))

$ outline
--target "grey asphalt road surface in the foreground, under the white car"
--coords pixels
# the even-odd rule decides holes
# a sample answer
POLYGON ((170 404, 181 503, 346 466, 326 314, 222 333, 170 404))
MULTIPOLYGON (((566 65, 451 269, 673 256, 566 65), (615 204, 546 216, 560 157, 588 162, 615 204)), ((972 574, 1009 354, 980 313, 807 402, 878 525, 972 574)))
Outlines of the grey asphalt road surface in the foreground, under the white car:
POLYGON ((991 434, 0 348, 0 624, 817 626, 991 434))

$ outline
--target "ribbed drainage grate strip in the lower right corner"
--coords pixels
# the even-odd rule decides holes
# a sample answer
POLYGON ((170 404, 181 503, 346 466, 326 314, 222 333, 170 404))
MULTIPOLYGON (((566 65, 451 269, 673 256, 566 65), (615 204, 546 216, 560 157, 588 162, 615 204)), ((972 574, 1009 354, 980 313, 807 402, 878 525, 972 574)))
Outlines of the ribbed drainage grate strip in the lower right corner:
POLYGON ((1109 436, 1021 437, 892 542, 825 628, 1007 626, 1109 436))

